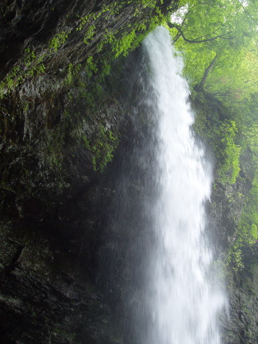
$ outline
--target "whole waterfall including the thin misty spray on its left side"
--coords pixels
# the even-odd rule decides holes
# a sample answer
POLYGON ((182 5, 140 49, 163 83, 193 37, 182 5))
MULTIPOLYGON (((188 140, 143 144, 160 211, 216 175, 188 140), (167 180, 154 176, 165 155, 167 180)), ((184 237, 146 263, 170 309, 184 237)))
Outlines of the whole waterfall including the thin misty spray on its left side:
POLYGON ((114 197, 97 276, 125 344, 220 343, 216 318, 225 301, 207 277, 204 230, 212 173, 191 132, 175 55, 160 27, 125 68, 130 140, 110 173, 114 197))

